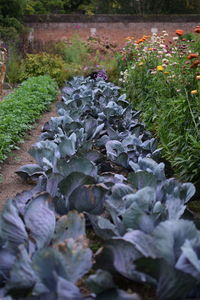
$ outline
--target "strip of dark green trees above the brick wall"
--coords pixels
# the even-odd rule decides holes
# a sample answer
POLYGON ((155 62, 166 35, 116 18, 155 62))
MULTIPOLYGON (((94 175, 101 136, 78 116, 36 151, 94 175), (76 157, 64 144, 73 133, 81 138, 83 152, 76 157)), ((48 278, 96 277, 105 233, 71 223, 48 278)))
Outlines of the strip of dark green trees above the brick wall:
MULTIPOLYGON (((12 0, 13 1, 13 0, 12 0)), ((200 12, 198 0, 27 0, 26 13, 189 14, 200 12)))

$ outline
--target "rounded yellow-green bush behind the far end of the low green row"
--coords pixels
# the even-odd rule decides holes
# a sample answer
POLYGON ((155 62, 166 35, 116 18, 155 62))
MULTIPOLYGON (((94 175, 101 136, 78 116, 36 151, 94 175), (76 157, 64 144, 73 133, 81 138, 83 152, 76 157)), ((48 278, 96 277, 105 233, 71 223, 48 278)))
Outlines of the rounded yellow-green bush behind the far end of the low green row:
POLYGON ((59 55, 39 53, 28 54, 21 65, 20 80, 23 81, 32 76, 50 75, 58 85, 65 80, 64 61, 59 55))

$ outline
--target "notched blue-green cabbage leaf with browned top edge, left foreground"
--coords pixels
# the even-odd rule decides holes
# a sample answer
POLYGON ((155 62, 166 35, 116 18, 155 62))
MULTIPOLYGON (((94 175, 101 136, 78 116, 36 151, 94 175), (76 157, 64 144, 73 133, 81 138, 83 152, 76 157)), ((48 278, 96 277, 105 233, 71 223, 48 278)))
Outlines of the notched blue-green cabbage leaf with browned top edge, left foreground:
POLYGON ((68 239, 54 248, 42 249, 33 259, 33 267, 42 282, 54 291, 57 286, 55 274, 75 283, 92 266, 92 252, 85 248, 85 240, 68 239))

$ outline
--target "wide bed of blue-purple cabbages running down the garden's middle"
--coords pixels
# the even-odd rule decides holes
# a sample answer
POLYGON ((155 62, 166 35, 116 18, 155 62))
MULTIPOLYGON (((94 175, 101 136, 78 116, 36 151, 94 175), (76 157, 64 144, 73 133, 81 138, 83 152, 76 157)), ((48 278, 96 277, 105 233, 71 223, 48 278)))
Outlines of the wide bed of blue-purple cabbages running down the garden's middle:
POLYGON ((59 116, 30 150, 37 164, 17 171, 37 185, 1 217, 2 299, 138 299, 117 287, 116 273, 151 284, 161 300, 198 298, 200 232, 184 220, 194 186, 166 178, 155 140, 118 87, 81 77, 63 93, 59 116), (82 213, 104 241, 88 296, 76 287, 92 266, 82 213))

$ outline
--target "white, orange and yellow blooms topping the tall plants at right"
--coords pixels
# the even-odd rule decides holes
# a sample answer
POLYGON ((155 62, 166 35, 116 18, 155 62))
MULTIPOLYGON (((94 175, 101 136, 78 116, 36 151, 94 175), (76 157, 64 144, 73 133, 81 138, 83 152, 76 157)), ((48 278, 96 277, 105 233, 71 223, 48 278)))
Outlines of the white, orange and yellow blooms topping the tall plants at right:
MULTIPOLYGON (((195 32, 198 32, 198 29, 200 30, 200 26, 196 26, 195 32)), ((198 75, 199 53, 192 51, 191 45, 194 41, 185 37, 184 30, 177 29, 175 34, 171 40, 165 30, 160 35, 144 35, 135 41, 133 37, 128 37, 127 44, 121 51, 124 68, 121 70, 119 82, 128 84, 131 78, 129 75, 137 70, 141 72, 143 68, 147 74, 154 76, 162 73, 167 82, 174 84, 176 80, 176 91, 185 89, 186 77, 187 80, 193 80, 198 75)))

